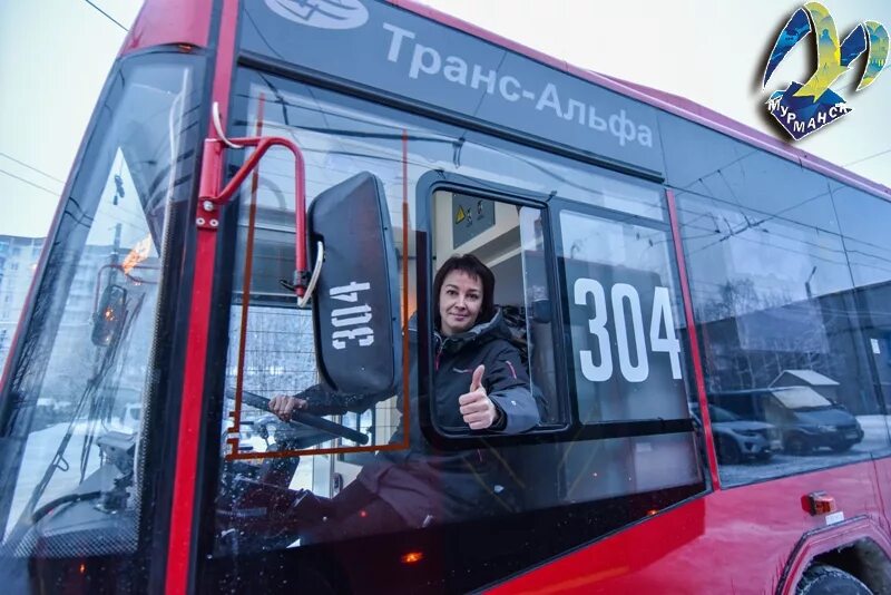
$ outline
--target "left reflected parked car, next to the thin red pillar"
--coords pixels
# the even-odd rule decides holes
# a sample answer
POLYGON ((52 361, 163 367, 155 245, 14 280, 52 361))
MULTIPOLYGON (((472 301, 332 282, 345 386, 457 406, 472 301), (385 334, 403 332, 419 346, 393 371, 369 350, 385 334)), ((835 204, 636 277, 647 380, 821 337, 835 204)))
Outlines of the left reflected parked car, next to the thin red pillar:
MULTIPOLYGON (((699 421, 699 408, 692 406, 693 414, 699 421)), ((752 460, 764 461, 782 448, 780 433, 764 421, 751 421, 716 407, 708 406, 712 420, 712 435, 715 438, 717 460, 724 465, 736 465, 752 460)))

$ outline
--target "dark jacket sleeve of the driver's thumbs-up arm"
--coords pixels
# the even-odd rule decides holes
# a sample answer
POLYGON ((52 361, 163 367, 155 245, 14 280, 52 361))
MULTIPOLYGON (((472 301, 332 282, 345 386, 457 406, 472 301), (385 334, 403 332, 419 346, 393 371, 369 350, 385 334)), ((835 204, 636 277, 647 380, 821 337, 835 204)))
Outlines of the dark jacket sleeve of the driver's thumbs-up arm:
POLYGON ((540 421, 539 406, 530 390, 529 374, 520 361, 520 352, 503 343, 488 355, 482 384, 489 399, 506 417, 503 433, 519 433, 535 428, 540 421))

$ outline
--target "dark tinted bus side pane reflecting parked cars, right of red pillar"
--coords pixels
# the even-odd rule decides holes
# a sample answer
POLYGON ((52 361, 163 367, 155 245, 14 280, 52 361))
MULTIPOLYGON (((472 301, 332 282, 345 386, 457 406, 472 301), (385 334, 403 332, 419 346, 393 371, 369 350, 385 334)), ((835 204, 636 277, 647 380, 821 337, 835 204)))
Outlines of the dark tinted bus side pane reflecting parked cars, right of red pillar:
POLYGON ((712 420, 722 481, 884 450, 855 283, 842 236, 830 231, 838 227, 828 182, 728 149, 719 135, 708 146, 712 158, 736 156, 726 166, 733 176, 724 166, 696 173, 677 156, 673 163, 695 191, 677 197, 708 400, 741 418, 712 420), (724 178, 723 187, 705 183, 724 178))

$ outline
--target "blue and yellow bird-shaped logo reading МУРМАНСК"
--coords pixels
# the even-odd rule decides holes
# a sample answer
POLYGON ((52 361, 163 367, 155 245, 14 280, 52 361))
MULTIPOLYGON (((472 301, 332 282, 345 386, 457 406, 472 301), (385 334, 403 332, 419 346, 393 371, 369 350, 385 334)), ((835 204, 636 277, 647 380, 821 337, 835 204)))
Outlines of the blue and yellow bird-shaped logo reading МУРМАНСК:
POLYGON ((764 87, 783 58, 809 33, 814 33, 816 40, 814 74, 804 85, 793 81, 786 90, 774 91, 767 100, 767 110, 795 140, 851 111, 844 99, 829 87, 851 68, 861 53, 866 51, 866 66, 858 91, 875 81, 888 60, 888 31, 882 23, 862 22, 839 43, 835 22, 826 7, 807 2, 780 31, 764 70, 764 87))

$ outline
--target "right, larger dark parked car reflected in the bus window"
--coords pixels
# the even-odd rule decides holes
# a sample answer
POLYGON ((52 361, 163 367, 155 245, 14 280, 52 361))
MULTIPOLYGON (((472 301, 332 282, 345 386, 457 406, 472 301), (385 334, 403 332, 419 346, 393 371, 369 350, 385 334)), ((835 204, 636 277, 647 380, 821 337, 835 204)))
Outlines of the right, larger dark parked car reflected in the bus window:
POLYGON ((844 406, 811 387, 776 387, 709 394, 743 419, 776 426, 785 450, 806 455, 820 448, 844 452, 863 440, 863 429, 844 406))

